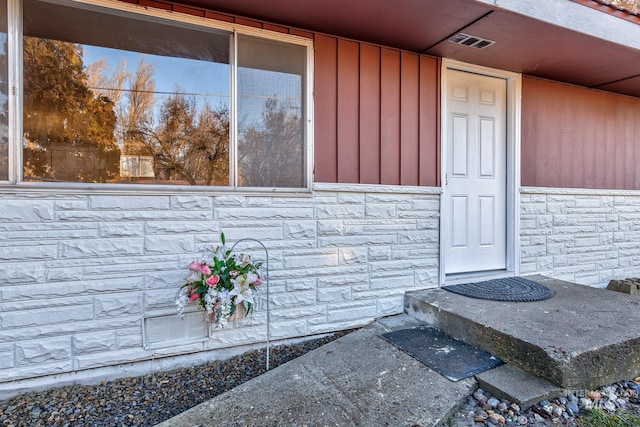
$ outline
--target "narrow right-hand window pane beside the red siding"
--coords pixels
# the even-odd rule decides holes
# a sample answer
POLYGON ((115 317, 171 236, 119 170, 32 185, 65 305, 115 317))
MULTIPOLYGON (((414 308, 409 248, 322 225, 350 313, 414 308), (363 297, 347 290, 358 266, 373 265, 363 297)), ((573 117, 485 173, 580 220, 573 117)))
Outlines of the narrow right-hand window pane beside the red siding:
POLYGON ((238 185, 306 186, 306 47, 238 36, 238 185))

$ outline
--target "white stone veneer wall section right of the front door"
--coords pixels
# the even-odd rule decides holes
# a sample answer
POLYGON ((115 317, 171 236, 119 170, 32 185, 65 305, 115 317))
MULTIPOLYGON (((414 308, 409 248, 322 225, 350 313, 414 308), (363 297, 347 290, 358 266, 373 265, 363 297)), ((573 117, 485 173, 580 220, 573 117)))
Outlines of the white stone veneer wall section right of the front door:
POLYGON ((524 188, 520 273, 606 286, 640 276, 640 191, 524 188))

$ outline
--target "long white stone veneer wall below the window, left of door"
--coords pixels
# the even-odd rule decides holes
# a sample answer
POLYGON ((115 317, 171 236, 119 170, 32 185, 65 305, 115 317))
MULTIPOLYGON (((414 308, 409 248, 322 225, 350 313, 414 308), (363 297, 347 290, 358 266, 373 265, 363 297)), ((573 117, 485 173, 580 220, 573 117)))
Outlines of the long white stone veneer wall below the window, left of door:
POLYGON ((0 394, 12 380, 263 343, 261 310, 204 342, 144 348, 143 318, 175 313, 187 265, 220 231, 269 249, 274 341, 400 313, 406 291, 438 283, 439 199, 338 184, 298 197, 2 194, 0 394))

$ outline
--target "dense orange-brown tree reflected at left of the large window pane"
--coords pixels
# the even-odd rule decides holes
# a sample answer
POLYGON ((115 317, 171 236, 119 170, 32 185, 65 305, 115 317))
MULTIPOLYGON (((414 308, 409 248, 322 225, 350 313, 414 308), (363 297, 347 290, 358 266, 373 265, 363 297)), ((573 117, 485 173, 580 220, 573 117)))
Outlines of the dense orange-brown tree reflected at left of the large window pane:
POLYGON ((25 179, 113 181, 114 104, 87 87, 80 46, 25 37, 23 49, 25 179))

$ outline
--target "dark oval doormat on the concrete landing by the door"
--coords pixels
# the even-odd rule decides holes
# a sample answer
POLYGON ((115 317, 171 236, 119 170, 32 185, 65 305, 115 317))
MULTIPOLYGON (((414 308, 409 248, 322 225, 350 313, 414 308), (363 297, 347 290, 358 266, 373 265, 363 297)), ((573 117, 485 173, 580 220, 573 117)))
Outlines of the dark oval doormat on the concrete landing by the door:
POLYGON ((442 289, 471 298, 492 301, 532 302, 551 298, 554 292, 524 277, 505 277, 484 282, 443 286, 442 289))

